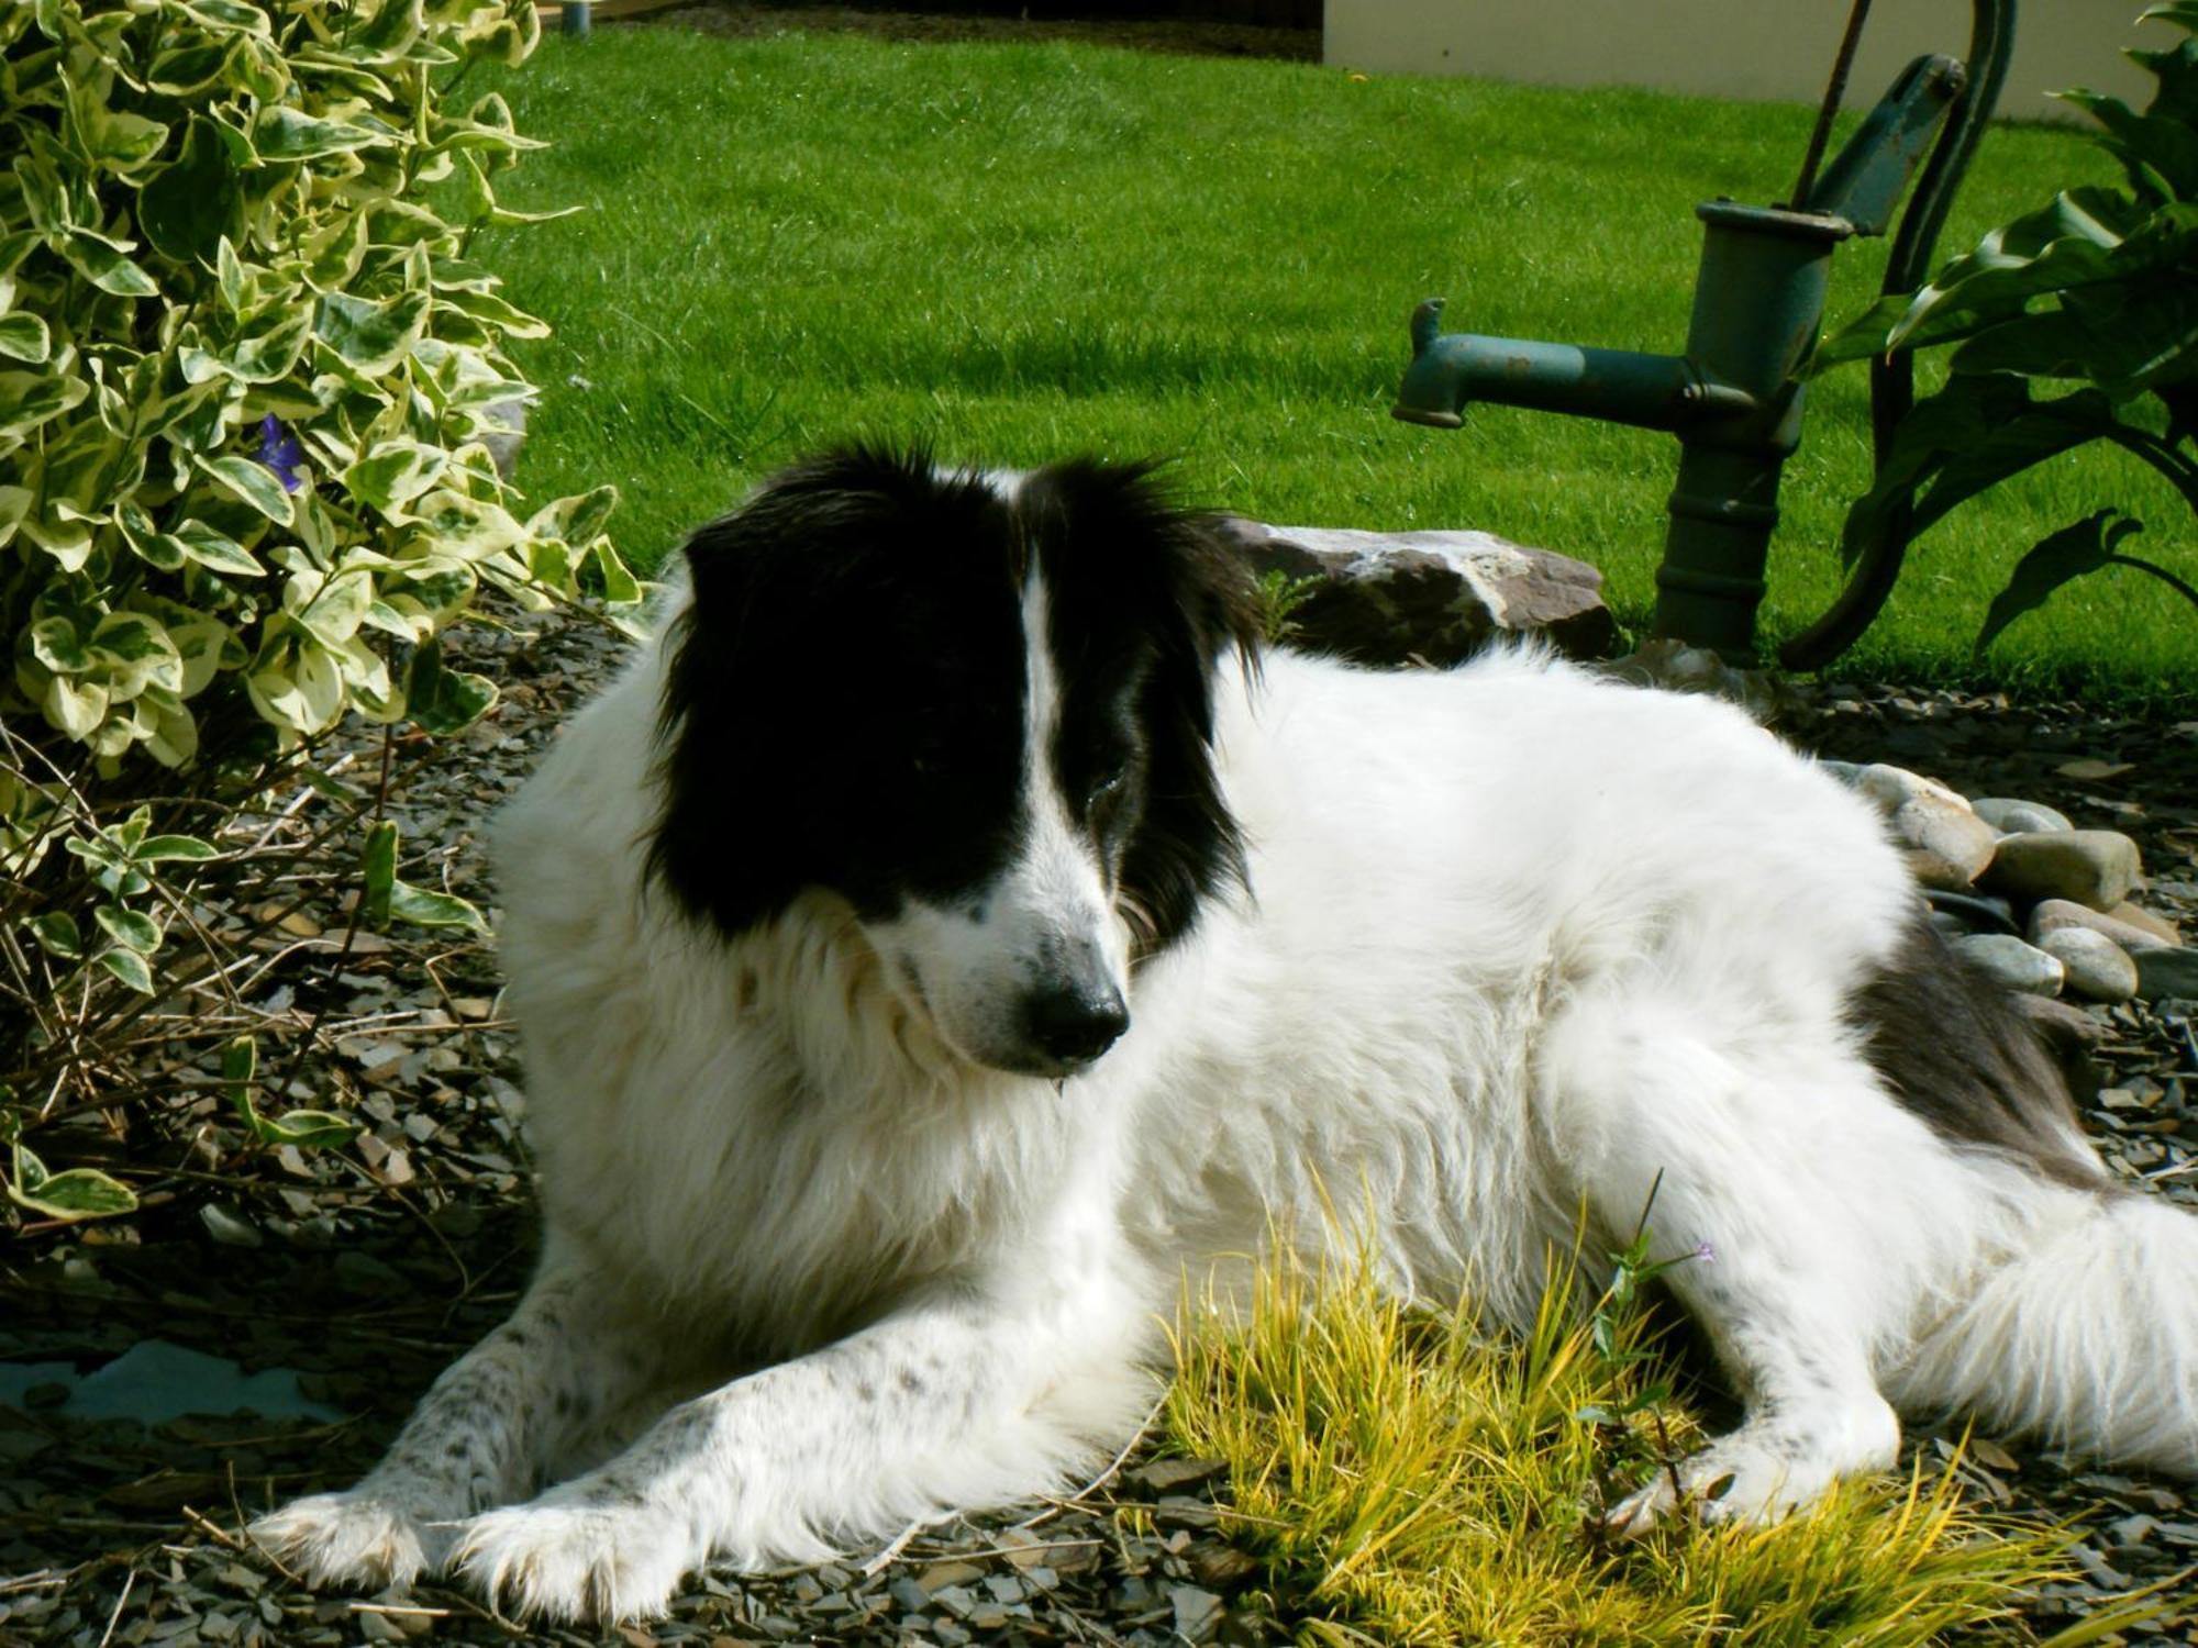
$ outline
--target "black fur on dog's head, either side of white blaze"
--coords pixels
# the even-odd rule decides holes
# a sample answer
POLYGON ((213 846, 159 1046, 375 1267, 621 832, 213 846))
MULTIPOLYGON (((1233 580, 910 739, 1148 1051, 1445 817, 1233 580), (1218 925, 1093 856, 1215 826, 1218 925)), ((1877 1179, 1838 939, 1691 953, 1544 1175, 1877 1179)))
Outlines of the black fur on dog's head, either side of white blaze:
POLYGON ((886 918, 969 899, 1015 848, 1022 584, 1051 591, 1055 771, 1141 951, 1242 879, 1211 672, 1257 639, 1248 574, 1145 466, 1057 464, 1013 501, 928 453, 785 470, 686 545, 651 870, 743 934, 802 890, 886 918))

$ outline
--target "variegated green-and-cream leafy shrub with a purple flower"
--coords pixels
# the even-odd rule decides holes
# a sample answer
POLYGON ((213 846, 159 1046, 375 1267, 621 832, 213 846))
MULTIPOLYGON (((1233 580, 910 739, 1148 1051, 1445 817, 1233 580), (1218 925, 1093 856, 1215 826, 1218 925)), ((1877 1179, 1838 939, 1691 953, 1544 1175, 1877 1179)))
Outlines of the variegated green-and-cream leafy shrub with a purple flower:
POLYGON ((468 257, 532 145, 459 81, 534 40, 532 0, 0 4, 13 1134, 55 1000, 165 987, 160 877, 231 855, 207 798, 345 714, 479 716, 437 637, 484 587, 640 595, 609 488, 528 510, 484 444, 532 393, 506 338, 545 327, 468 257))

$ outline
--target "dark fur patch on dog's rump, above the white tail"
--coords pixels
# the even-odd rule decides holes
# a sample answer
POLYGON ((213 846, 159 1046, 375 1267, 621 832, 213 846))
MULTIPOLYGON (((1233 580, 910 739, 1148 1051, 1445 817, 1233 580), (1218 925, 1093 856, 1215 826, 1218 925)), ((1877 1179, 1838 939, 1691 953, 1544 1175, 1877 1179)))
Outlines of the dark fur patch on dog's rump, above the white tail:
POLYGON ((1870 1066, 1908 1110, 1956 1145, 1996 1149, 2046 1178, 2106 1189, 2060 1061, 2005 987, 1921 914, 1899 954, 1855 995, 1870 1066))

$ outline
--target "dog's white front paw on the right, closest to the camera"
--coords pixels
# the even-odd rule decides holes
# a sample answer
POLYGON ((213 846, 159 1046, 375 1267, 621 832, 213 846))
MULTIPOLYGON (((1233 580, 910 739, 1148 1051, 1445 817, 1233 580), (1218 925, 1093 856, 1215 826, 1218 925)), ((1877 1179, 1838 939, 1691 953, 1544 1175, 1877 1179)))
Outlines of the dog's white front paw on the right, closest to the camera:
POLYGON ((703 1560, 681 1518, 545 1494, 459 1527, 453 1565, 490 1602, 550 1619, 646 1619, 703 1560))

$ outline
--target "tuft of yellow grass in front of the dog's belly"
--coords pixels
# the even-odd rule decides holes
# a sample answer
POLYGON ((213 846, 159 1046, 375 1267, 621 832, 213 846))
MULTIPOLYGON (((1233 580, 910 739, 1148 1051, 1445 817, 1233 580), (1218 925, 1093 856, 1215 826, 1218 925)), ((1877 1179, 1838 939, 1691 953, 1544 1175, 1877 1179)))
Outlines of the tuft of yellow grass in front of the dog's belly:
POLYGON ((1365 1261, 1273 1252, 1244 1307, 1187 1301, 1165 1426, 1229 1461, 1231 1538, 1301 1641, 2031 1641, 2020 1604, 2068 1575, 2066 1534, 1978 1512, 1921 1466, 1776 1527, 1600 1538, 1589 1512, 1644 1457, 1701 1441, 1648 1384, 1640 1312, 1552 1261, 1534 1329, 1490 1338, 1398 1303, 1365 1261))

